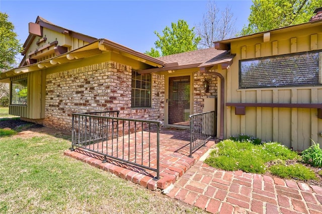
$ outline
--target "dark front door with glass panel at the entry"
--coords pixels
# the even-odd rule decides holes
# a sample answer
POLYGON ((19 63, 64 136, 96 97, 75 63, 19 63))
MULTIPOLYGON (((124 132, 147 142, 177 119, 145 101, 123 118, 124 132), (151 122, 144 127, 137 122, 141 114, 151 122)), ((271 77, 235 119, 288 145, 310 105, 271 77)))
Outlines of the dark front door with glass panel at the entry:
POLYGON ((171 125, 189 126, 190 76, 169 77, 169 114, 171 125))

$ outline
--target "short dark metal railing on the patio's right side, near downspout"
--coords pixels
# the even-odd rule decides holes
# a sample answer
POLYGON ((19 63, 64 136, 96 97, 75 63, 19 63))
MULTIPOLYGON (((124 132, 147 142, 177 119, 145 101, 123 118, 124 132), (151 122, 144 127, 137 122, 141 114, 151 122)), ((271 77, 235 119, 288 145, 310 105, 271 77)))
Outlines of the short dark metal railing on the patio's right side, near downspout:
POLYGON ((190 115, 190 155, 201 146, 205 146, 206 142, 215 136, 215 111, 190 115))

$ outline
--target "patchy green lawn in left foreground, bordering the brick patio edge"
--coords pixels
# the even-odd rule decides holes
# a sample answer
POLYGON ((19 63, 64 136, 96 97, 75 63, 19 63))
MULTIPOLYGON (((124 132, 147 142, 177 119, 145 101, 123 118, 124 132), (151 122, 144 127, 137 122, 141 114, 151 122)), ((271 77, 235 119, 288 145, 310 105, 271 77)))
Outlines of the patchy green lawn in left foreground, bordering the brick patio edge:
POLYGON ((0 138, 0 213, 203 213, 63 156, 64 136, 0 138))

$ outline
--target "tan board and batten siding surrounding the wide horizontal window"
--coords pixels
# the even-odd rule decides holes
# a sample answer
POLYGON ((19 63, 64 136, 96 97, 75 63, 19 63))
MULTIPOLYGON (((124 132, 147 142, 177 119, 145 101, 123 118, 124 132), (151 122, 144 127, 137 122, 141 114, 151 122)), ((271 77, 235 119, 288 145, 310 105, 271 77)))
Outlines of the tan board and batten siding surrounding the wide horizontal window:
MULTIPOLYGON (((294 87, 239 88, 239 60, 278 56, 306 51, 322 51, 322 29, 309 27, 288 33, 231 42, 236 54, 227 71, 227 99, 231 103, 322 103, 322 85, 294 87)), ((319 62, 321 64, 321 60, 319 62)), ((319 78, 321 78, 321 66, 319 78)), ((320 79, 319 79, 319 82, 320 79)), ((234 106, 226 106, 225 137, 247 134, 263 141, 281 142, 294 150, 304 150, 315 143, 322 144, 322 119, 317 109, 269 108, 247 106, 245 115, 235 115, 234 106)))

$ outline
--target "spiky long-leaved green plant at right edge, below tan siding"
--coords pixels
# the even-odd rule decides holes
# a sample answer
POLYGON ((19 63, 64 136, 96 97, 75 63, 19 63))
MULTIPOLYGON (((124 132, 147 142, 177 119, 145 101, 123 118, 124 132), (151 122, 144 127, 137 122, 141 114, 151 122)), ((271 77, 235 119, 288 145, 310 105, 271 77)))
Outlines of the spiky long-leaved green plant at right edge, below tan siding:
POLYGON ((320 149, 319 144, 315 144, 313 140, 312 142, 314 145, 302 152, 302 160, 311 166, 322 167, 322 149, 320 149))

